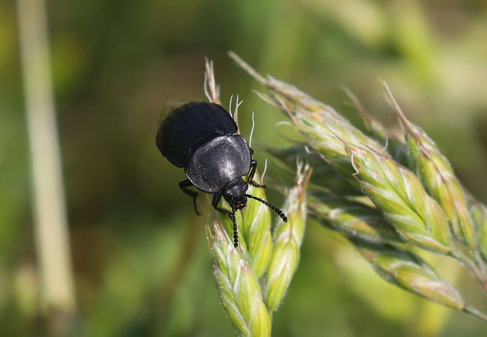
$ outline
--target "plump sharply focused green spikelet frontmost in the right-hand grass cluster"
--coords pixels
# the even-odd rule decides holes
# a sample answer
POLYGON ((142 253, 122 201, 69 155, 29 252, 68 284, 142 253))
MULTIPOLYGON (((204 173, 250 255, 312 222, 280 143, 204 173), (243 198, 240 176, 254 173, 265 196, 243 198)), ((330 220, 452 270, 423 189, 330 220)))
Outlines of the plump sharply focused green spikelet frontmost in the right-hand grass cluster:
POLYGON ((356 179, 397 232, 409 243, 433 252, 450 252, 450 228, 441 207, 408 169, 369 148, 343 142, 356 179))

